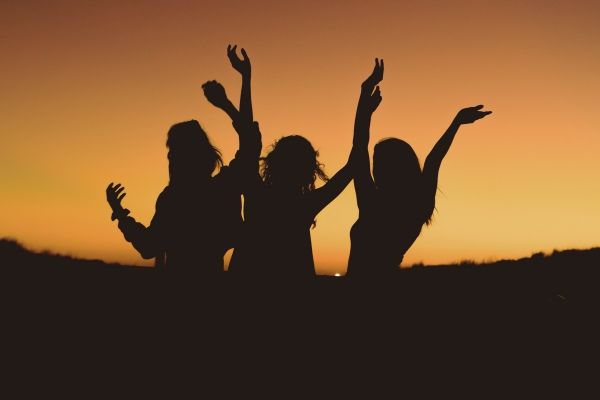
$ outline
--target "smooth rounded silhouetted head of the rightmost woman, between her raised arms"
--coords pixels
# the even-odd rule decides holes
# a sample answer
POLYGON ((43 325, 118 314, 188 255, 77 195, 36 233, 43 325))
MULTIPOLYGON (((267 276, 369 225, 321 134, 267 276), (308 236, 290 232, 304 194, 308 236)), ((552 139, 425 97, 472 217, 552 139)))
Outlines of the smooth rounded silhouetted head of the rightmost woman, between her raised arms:
POLYGON ((378 189, 389 192, 420 191, 421 165, 413 148, 404 140, 384 139, 373 152, 373 178, 378 189))

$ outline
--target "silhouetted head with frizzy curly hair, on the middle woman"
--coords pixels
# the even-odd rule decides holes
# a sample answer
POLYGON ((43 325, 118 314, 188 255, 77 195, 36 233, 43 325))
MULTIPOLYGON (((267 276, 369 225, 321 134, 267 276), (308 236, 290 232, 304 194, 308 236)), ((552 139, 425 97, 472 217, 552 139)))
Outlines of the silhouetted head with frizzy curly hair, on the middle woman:
POLYGON ((263 158, 261 175, 267 186, 306 193, 315 189, 317 178, 328 180, 318 156, 319 152, 304 137, 284 136, 263 158))

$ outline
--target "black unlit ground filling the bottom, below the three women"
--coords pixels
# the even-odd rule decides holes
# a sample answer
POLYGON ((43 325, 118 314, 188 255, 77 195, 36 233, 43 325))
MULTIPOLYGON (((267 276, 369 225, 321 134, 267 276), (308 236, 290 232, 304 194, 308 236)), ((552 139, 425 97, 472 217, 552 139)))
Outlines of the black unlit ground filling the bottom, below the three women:
POLYGON ((597 364, 600 249, 290 284, 179 280, 1 243, 4 360, 53 384, 56 374, 314 383, 498 369, 505 384, 542 372, 548 388, 597 364))

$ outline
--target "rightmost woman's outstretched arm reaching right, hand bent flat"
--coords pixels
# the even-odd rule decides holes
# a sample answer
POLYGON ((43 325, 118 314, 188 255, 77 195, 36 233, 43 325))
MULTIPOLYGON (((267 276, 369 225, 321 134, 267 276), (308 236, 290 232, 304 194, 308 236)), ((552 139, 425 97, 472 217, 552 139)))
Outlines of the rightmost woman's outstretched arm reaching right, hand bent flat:
POLYGON ((425 199, 427 200, 427 207, 425 213, 431 215, 433 208, 435 207, 435 193, 437 191, 438 175, 440 172, 440 166, 444 157, 450 150, 450 146, 454 141, 454 137, 463 124, 472 124, 473 122, 491 114, 491 111, 481 111, 483 105, 475 107, 467 107, 460 110, 452 123, 437 141, 429 155, 425 159, 425 165, 423 166, 423 177, 424 177, 424 190, 425 199))

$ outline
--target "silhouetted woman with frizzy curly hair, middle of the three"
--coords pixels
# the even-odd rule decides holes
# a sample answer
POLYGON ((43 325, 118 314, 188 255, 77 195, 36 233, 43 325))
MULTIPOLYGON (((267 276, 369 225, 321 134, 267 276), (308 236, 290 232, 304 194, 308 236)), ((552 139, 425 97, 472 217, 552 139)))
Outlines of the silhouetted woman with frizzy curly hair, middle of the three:
MULTIPOLYGON (((250 97, 245 101, 250 103, 250 97)), ((254 128, 252 137, 260 140, 254 128)), ((328 179, 318 155, 298 135, 276 141, 262 160, 257 155, 243 185, 244 227, 229 267, 232 273, 292 280, 315 276, 311 226, 352 179, 348 164, 328 179), (325 182, 320 188, 318 179, 325 182)))

